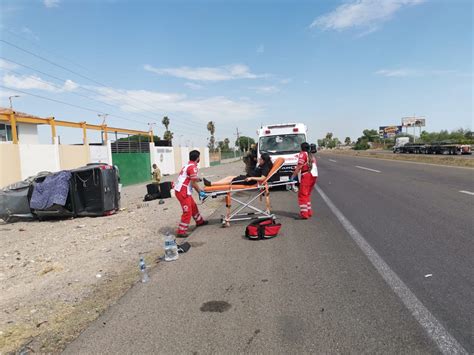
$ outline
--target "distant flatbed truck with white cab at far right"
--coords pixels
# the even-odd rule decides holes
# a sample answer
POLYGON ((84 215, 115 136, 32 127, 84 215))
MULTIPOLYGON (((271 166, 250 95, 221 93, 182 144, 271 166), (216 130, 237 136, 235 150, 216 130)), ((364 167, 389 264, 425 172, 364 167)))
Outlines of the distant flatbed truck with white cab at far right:
POLYGON ((393 146, 394 153, 406 154, 472 154, 469 144, 456 144, 448 142, 435 143, 410 143, 410 138, 399 137, 393 146))

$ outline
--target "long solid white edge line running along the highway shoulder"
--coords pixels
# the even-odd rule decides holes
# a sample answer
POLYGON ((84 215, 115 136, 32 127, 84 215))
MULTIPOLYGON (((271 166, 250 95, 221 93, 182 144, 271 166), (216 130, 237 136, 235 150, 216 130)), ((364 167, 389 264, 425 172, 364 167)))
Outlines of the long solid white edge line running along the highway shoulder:
POLYGON ((421 301, 410 291, 407 285, 398 275, 383 261, 377 252, 367 243, 364 237, 354 228, 349 220, 338 210, 329 197, 316 186, 316 190, 322 199, 329 206, 331 211, 356 242, 365 256, 370 260, 375 269, 390 286, 392 291, 400 298, 412 316, 418 321, 423 329, 428 333, 431 340, 438 346, 443 354, 467 354, 466 349, 443 327, 443 325, 431 314, 431 312, 421 303, 421 301))

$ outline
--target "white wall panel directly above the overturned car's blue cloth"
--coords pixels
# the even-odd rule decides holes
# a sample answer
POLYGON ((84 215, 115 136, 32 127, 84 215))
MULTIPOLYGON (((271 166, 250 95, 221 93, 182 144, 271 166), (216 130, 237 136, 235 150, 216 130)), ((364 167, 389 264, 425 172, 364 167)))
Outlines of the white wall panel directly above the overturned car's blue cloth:
POLYGON ((57 144, 19 144, 21 178, 38 174, 40 171, 61 170, 57 144))

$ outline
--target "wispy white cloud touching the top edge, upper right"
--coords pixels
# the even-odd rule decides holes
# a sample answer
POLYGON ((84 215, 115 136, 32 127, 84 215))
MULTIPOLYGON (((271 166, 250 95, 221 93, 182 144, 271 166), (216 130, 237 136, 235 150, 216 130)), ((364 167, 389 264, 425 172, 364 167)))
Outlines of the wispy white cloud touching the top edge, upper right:
POLYGON ((414 6, 425 0, 356 0, 338 6, 334 11, 316 18, 310 28, 323 30, 346 30, 368 28, 371 33, 382 22, 389 20, 402 7, 414 6))

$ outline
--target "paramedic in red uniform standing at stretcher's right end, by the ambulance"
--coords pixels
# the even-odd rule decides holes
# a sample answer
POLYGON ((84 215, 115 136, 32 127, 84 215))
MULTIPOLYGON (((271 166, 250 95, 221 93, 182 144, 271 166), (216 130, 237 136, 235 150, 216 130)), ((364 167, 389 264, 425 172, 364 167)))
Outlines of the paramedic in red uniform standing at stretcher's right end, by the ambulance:
POLYGON ((291 176, 292 180, 301 172, 300 189, 298 191, 298 204, 300 207, 300 216, 297 219, 308 219, 313 215, 311 208, 311 193, 317 180, 317 170, 312 171, 313 164, 316 165, 316 159, 310 152, 309 143, 301 144, 301 152, 298 155, 298 165, 291 176), (316 176, 313 176, 315 174, 316 176))

